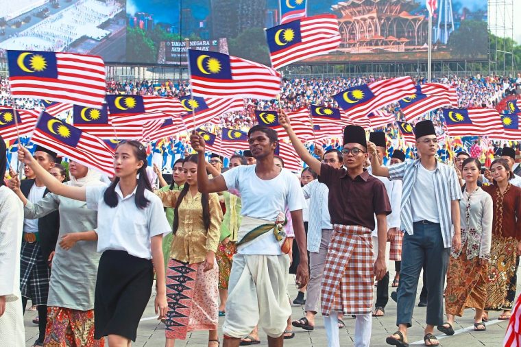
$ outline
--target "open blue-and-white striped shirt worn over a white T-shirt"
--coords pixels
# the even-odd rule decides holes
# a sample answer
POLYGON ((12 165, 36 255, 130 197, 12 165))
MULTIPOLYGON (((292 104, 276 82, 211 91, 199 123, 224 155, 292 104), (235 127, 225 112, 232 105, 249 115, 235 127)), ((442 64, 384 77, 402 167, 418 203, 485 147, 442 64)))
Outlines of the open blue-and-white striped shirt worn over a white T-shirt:
MULTIPOLYGON (((411 193, 418 176, 420 165, 420 159, 417 159, 389 167, 389 179, 403 181, 402 213, 400 218, 402 220, 402 230, 405 230, 409 235, 413 235, 414 230, 411 193)), ((454 200, 461 199, 461 187, 459 186, 455 169, 442 163, 437 163, 434 173, 434 183, 441 236, 443 237, 445 248, 450 248, 452 241, 452 215, 450 204, 454 200)))

